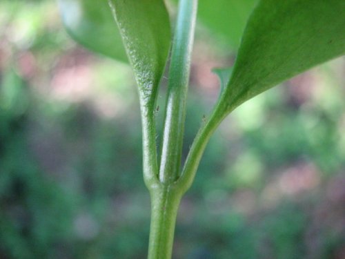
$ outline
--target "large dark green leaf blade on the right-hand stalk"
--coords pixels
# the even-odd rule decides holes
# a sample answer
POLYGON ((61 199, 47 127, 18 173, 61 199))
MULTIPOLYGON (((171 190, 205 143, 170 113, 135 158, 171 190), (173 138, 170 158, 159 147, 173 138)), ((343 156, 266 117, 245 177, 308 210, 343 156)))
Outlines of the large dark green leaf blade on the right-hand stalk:
POLYGON ((344 54, 344 0, 259 1, 221 98, 223 112, 344 54))

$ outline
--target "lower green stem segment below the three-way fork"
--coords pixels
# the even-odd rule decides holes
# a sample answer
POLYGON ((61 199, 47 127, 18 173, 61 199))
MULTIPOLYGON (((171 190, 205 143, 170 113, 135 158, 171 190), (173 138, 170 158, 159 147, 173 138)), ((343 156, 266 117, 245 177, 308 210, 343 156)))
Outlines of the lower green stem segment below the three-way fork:
POLYGON ((169 186, 151 190, 151 226, 148 259, 169 259, 172 254, 180 192, 169 186))

